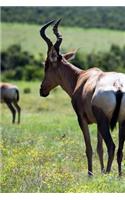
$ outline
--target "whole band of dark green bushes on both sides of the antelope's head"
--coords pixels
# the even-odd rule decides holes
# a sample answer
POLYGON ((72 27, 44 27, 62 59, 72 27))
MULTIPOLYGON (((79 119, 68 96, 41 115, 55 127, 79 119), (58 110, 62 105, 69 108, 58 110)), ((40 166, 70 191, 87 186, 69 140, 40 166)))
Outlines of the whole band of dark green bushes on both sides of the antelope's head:
MULTIPOLYGON (((43 55, 37 59, 19 44, 11 45, 1 52, 2 80, 41 80, 44 74, 43 55)), ((125 73, 125 46, 120 48, 112 45, 108 52, 89 53, 77 52, 72 61, 77 67, 86 70, 98 67, 104 71, 119 71, 125 73)))

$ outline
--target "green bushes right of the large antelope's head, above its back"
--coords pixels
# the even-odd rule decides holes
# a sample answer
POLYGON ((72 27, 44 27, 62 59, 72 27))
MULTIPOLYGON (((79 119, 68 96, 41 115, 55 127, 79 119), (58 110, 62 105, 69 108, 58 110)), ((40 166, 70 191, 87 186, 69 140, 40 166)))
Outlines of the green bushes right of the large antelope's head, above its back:
POLYGON ((109 52, 92 52, 86 56, 78 53, 72 63, 81 69, 98 67, 105 71, 125 72, 125 47, 113 44, 109 52))

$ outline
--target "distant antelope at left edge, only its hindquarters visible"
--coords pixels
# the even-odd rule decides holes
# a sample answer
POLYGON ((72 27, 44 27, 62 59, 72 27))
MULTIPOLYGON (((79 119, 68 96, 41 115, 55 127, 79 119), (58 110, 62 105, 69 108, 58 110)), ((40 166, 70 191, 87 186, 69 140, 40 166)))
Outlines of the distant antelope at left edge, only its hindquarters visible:
POLYGON ((0 102, 6 103, 12 113, 12 123, 15 123, 16 110, 18 112, 18 123, 20 123, 21 108, 18 105, 19 90, 10 83, 0 83, 0 102))

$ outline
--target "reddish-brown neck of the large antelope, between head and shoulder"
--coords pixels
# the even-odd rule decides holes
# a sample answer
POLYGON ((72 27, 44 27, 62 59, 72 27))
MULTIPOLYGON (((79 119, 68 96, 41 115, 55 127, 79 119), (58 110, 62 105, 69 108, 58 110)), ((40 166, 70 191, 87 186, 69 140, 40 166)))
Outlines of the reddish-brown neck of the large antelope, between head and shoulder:
POLYGON ((70 97, 72 97, 81 71, 82 70, 64 60, 61 62, 61 65, 58 68, 60 82, 59 85, 70 97))

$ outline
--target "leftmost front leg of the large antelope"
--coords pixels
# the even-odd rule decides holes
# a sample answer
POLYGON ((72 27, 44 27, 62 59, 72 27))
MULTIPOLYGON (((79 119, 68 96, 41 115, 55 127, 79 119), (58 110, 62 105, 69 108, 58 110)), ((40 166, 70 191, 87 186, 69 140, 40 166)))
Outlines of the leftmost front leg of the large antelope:
POLYGON ((78 122, 83 132, 85 145, 86 145, 86 156, 87 156, 87 161, 88 161, 88 175, 91 176, 93 175, 92 173, 92 145, 91 145, 88 124, 81 115, 78 115, 78 122))

